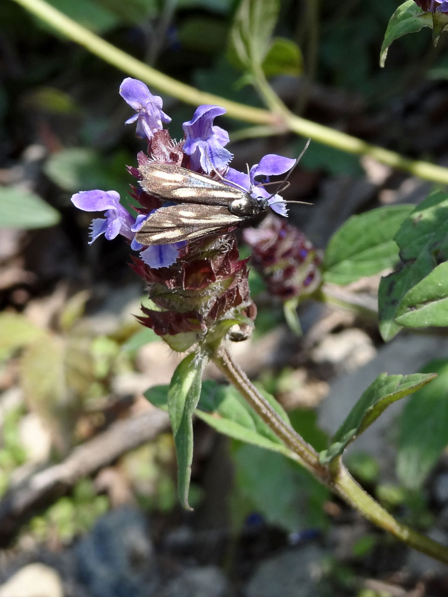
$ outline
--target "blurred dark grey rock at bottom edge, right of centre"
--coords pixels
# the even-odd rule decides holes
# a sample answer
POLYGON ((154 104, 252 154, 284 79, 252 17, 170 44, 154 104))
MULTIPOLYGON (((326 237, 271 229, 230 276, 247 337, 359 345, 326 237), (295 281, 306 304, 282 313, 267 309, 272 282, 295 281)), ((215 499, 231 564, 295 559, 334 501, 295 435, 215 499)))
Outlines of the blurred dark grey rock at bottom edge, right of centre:
POLYGON ((314 597, 324 552, 317 546, 288 550, 263 561, 248 582, 245 597, 314 597))

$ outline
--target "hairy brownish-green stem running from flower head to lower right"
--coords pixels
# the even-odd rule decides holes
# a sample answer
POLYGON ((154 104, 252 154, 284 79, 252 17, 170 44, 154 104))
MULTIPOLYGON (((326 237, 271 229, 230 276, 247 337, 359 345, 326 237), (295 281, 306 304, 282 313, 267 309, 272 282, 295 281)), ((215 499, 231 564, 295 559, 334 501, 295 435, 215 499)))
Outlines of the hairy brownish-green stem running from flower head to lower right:
POLYGON ((302 463, 318 481, 326 485, 357 512, 360 512, 368 521, 388 531, 388 533, 391 533, 410 547, 426 553, 432 558, 444 562, 444 564, 448 564, 447 547, 395 520, 387 510, 357 484, 343 466, 340 457, 335 458, 329 466, 323 466, 319 462, 318 454, 314 448, 307 444, 299 433, 278 416, 269 402, 253 386, 244 371, 232 360, 228 350, 221 350, 212 357, 212 360, 254 411, 294 453, 291 455, 296 456, 293 459, 302 463))

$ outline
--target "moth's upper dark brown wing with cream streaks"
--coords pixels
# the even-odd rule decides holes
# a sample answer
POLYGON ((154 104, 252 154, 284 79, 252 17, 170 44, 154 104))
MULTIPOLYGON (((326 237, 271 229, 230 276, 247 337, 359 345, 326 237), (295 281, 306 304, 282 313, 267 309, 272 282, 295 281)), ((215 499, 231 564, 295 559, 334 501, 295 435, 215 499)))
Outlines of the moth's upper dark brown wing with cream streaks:
POLYGON ((170 201, 224 206, 246 195, 243 190, 220 180, 172 164, 151 162, 140 166, 139 172, 142 176, 140 185, 143 190, 170 201))

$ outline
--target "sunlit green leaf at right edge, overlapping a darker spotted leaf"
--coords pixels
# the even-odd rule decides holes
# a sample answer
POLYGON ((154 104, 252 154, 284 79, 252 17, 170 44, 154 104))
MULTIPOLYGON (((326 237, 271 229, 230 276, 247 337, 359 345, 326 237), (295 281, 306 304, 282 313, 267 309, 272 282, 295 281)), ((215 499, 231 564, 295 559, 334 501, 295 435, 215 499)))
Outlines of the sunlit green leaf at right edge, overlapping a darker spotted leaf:
POLYGON ((448 326, 448 261, 404 295, 395 322, 408 328, 448 326))

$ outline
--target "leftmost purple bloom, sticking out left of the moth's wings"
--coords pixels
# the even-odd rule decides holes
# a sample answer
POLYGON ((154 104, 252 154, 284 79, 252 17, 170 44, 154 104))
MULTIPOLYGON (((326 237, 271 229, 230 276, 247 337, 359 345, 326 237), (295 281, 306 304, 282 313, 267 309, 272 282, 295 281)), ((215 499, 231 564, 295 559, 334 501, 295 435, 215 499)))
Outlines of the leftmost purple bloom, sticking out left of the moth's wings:
POLYGON ((72 203, 83 211, 105 211, 106 218, 96 218, 91 223, 91 241, 104 234, 108 241, 121 234, 127 239, 134 238, 131 226, 134 218, 120 204, 120 196, 115 190, 85 190, 72 196, 72 203))

